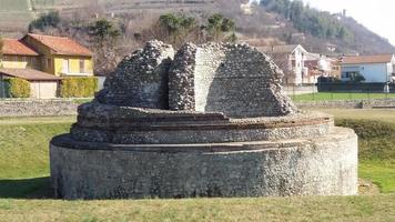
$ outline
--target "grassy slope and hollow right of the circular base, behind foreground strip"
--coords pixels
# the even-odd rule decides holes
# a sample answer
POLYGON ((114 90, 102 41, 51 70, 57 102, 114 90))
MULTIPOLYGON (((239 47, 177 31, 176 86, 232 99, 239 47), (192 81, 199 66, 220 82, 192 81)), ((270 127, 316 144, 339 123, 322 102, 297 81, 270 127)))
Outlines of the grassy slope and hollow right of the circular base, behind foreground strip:
POLYGON ((322 110, 359 137, 359 178, 395 192, 395 110, 322 110))

